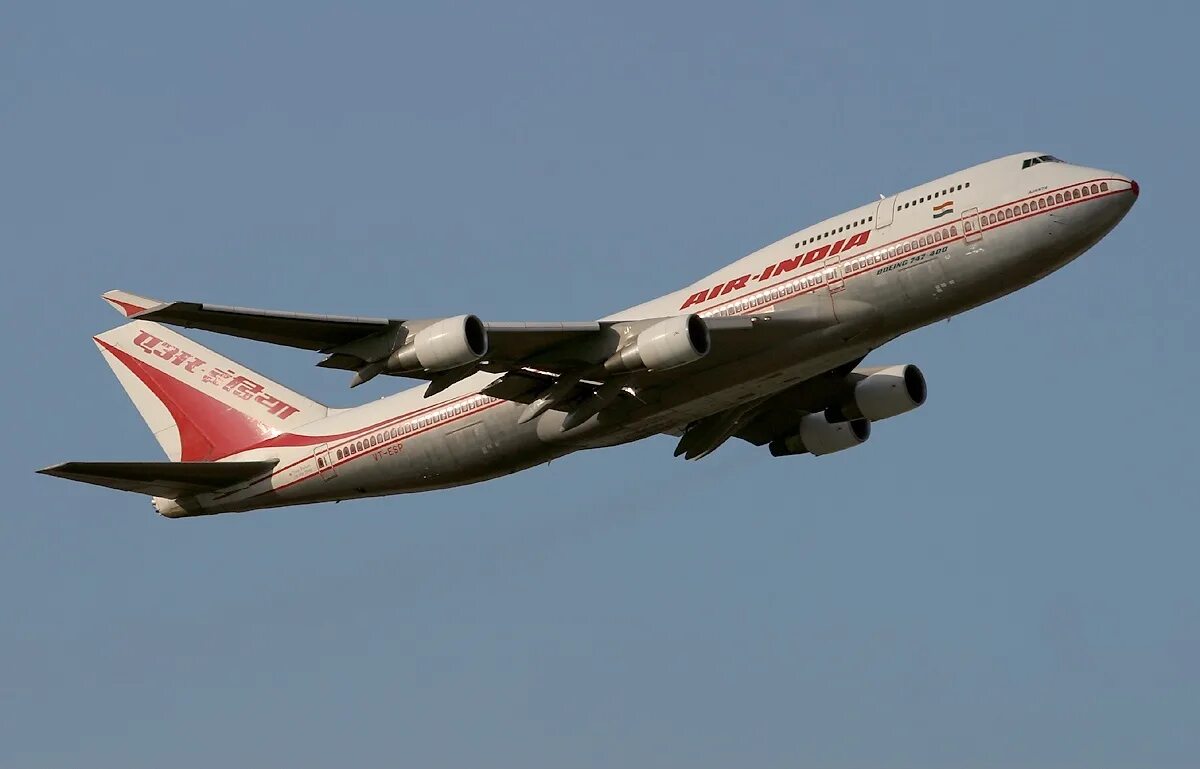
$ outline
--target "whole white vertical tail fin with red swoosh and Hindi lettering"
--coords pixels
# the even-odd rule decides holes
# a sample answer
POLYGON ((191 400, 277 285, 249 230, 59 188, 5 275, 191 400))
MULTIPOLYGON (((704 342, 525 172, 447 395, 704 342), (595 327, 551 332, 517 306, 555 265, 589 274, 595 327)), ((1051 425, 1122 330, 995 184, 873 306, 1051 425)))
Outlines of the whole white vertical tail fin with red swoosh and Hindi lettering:
POLYGON ((94 338, 174 462, 228 457, 329 413, 157 323, 134 320, 94 338))

